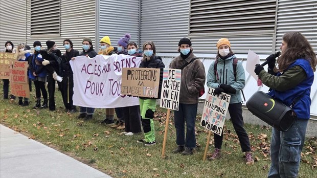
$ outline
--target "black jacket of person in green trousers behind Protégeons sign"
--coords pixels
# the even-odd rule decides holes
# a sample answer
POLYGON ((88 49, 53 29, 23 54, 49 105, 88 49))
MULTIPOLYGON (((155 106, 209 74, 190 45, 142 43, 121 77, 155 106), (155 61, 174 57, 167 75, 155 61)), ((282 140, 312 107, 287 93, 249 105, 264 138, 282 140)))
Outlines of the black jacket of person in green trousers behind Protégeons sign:
MULTIPOLYGON (((163 82, 163 69, 165 68, 165 64, 162 61, 160 56, 151 56, 150 60, 143 59, 140 68, 153 68, 153 69, 160 69, 160 85, 159 85, 159 94, 157 98, 161 98, 161 88, 163 82)), ((141 99, 152 99, 146 97, 140 97, 141 99)))

